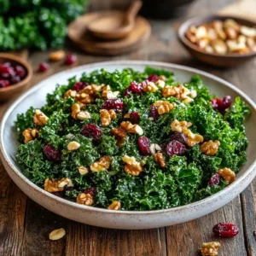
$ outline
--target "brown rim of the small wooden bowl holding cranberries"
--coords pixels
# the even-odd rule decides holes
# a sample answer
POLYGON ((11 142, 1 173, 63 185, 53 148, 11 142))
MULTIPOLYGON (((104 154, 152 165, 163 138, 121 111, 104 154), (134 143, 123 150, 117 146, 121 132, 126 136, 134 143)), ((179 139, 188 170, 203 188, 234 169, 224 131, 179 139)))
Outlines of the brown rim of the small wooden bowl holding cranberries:
POLYGON ((23 60, 19 56, 9 54, 9 53, 0 53, 0 59, 7 59, 9 61, 16 61, 20 63, 20 66, 24 67, 26 69, 26 77, 22 80, 20 80, 19 83, 17 84, 11 84, 10 86, 0 88, 0 93, 6 92, 6 91, 11 91, 11 90, 16 90, 22 86, 24 86, 26 83, 28 83, 32 79, 32 67, 28 64, 27 61, 23 60))

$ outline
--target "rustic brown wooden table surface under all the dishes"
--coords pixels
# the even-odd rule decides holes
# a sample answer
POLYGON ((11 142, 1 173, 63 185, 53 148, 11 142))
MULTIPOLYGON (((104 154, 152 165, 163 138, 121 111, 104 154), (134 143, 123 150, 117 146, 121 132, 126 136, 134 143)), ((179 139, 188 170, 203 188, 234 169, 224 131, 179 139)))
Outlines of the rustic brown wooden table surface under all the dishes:
MULTIPOLYGON (((222 8, 229 0, 201 0, 189 10, 188 16, 207 15, 222 8)), ((197 67, 236 84, 256 101, 256 59, 233 69, 209 67, 193 60, 177 43, 175 21, 152 21, 153 34, 144 47, 130 55, 114 58, 79 55, 78 65, 95 61, 119 59, 154 60, 173 62, 197 67)), ((72 49, 73 51, 75 49, 72 49)), ((32 52, 29 61, 32 67, 46 61, 48 52, 32 52)), ((47 73, 35 73, 32 84, 45 79, 67 67, 54 63, 47 73)), ((57 82, 57 81, 56 81, 57 82)), ((0 113, 10 102, 0 105, 0 113)), ((236 199, 216 212, 203 218, 154 230, 107 230, 79 224, 61 218, 31 201, 11 181, 0 162, 0 255, 145 255, 145 256, 190 256, 198 255, 203 241, 220 241, 219 255, 256 255, 256 180, 236 199), (212 236, 212 226, 219 222, 237 224, 240 234, 233 239, 218 239, 212 236), (49 241, 49 232, 57 228, 67 230, 67 236, 59 241, 49 241)))

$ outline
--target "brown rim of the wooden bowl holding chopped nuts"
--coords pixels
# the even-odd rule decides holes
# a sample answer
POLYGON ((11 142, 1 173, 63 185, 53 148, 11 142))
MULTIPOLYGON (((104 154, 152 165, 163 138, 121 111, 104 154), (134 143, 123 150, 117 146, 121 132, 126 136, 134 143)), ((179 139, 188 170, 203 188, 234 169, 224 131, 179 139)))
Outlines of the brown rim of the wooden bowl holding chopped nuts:
POLYGON ((226 20, 226 19, 233 19, 236 20, 238 23, 241 22, 248 22, 251 23, 251 26, 256 27, 256 22, 253 22, 253 20, 246 20, 237 16, 232 16, 232 15, 206 15, 206 16, 199 16, 199 17, 194 17, 190 18, 189 20, 185 20, 181 26, 178 27, 177 30, 177 37, 179 38, 180 42, 184 44, 186 47, 189 49, 193 49, 198 53, 204 54, 204 55, 209 55, 212 57, 219 57, 219 58, 243 58, 243 57, 253 57, 256 55, 256 52, 249 52, 246 54, 225 54, 225 55, 218 55, 216 53, 209 53, 205 50, 199 49, 195 44, 189 41, 189 39, 186 37, 185 32, 189 29, 189 26, 192 26, 193 24, 202 24, 206 21, 211 21, 211 20, 226 20))

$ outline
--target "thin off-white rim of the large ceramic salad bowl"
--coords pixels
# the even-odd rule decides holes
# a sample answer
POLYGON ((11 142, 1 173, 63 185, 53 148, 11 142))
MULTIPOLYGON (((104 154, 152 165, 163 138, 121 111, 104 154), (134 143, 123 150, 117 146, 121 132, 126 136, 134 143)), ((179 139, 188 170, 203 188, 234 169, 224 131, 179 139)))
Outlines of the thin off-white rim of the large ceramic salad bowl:
MULTIPOLYGON (((186 66, 182 66, 182 65, 177 65, 177 64, 172 64, 172 63, 166 63, 166 62, 160 62, 160 61, 102 61, 102 62, 94 62, 94 63, 90 63, 90 64, 86 64, 83 66, 79 66, 79 67, 73 67, 72 69, 69 69, 68 71, 82 71, 86 69, 92 69, 92 68, 104 68, 104 67, 108 67, 108 66, 116 66, 116 68, 119 67, 119 65, 137 65, 137 66, 147 66, 147 65, 152 65, 154 67, 160 67, 160 68, 176 68, 178 70, 183 70, 183 71, 189 71, 192 73, 196 73, 199 75, 203 75, 205 77, 207 77, 208 79, 213 79, 215 81, 217 81, 218 83, 223 84, 224 86, 230 88, 231 90, 234 90, 237 94, 239 94, 240 96, 242 96, 250 105, 250 108, 253 109, 254 112, 256 112, 256 103, 253 102, 253 100, 247 96, 242 90, 238 89, 235 85, 225 81, 224 79, 220 79, 215 75, 212 75, 211 73, 207 73, 204 71, 201 71, 199 69, 193 68, 193 67, 186 67, 186 66)), ((200 201, 195 201, 193 203, 181 206, 181 207, 173 207, 173 208, 168 208, 168 209, 160 209, 160 210, 152 210, 152 211, 114 211, 114 210, 108 210, 105 208, 99 208, 99 207, 88 207, 88 206, 84 206, 84 205, 80 205, 74 201, 68 201, 67 199, 61 198, 57 195, 53 195, 50 194, 49 192, 45 191, 44 189, 41 189, 40 187, 38 187, 38 185, 36 185, 35 183, 32 183, 32 181, 26 177, 22 172, 20 172, 15 165, 13 165, 10 160, 9 157, 6 153, 6 149, 3 145, 3 130, 4 130, 4 125, 6 122, 6 119, 8 119, 9 114, 13 111, 13 109, 16 107, 16 105, 20 104, 20 102, 22 102, 23 99, 26 98, 26 96, 29 96, 30 94, 32 94, 34 91, 40 89, 40 87, 42 86, 42 84, 44 84, 47 80, 49 79, 54 79, 55 77, 58 77, 61 74, 67 73, 67 70, 61 71, 59 73, 55 73, 52 76, 49 76, 49 78, 47 79, 43 79, 41 82, 39 82, 36 86, 32 87, 30 90, 27 90, 24 94, 22 94, 19 98, 17 98, 15 100, 15 102, 13 102, 11 104, 11 106, 7 109, 6 113, 4 113, 3 115, 3 119, 1 121, 0 124, 0 156, 2 157, 2 160, 5 161, 5 163, 8 165, 9 169, 14 172, 14 174, 16 176, 18 176, 20 179, 22 179, 26 184, 28 184, 29 187, 31 187, 31 189, 35 189, 37 190, 38 193, 43 193, 46 197, 49 197, 49 199, 51 199, 52 201, 58 201, 59 203, 63 203, 66 204, 68 207, 73 207, 73 208, 80 208, 80 209, 84 209, 86 211, 92 211, 92 212, 102 212, 102 213, 114 213, 114 214, 132 214, 132 215, 140 215, 140 214, 155 214, 155 213, 165 213, 165 212, 180 212, 183 209, 186 208, 192 208, 192 207, 199 207, 201 204, 207 204, 211 201, 214 201, 216 198, 221 197, 225 194, 231 193, 232 189, 236 187, 236 185, 238 185, 238 183, 242 183, 243 181, 245 181, 247 179, 247 177, 251 174, 251 172, 253 172, 254 168, 256 167, 256 159, 253 160, 253 163, 251 166, 249 166, 247 168, 247 170, 236 179, 236 181, 234 183, 231 183, 230 185, 228 185, 226 188, 220 190, 218 193, 213 194, 208 196, 205 199, 202 199, 200 201)), ((256 174, 256 173, 255 173, 256 174)), ((29 195, 28 195, 29 196, 29 195)))

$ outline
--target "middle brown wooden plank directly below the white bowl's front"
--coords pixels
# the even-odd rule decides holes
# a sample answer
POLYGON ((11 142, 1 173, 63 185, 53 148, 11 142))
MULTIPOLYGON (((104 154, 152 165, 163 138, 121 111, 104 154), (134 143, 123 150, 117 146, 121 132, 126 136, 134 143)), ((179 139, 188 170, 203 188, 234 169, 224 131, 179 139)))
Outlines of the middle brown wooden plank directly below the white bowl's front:
POLYGON ((70 221, 66 255, 164 256, 165 229, 108 230, 70 221))

